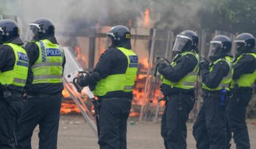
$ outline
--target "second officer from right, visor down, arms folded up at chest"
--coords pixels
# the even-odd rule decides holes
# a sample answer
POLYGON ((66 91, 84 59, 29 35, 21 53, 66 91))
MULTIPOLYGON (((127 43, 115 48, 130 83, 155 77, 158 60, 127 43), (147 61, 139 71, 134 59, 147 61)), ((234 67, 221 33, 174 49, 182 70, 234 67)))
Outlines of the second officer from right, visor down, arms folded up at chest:
POLYGON ((203 105, 193 126, 196 147, 226 148, 226 106, 229 99, 229 84, 233 68, 230 62, 231 40, 216 36, 210 42, 209 58, 199 63, 203 82, 203 105))

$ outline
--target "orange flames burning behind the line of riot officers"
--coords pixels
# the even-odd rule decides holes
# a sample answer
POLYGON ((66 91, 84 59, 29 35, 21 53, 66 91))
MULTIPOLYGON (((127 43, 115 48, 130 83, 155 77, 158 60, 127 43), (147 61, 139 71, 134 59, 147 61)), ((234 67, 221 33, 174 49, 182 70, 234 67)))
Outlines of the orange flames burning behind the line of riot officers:
MULTIPOLYGON (((150 24, 150 18, 149 18, 149 9, 146 9, 144 13, 144 25, 150 24)), ((98 47, 98 51, 96 53, 96 56, 101 55, 103 52, 105 52, 105 45, 101 44, 98 47)), ((80 47, 75 47, 75 56, 76 60, 80 63, 86 63, 86 57, 83 55, 83 52, 81 51, 80 47)), ((136 80, 134 84, 134 90, 133 90, 133 106, 131 109, 130 117, 138 117, 140 115, 140 109, 142 106, 142 100, 144 96, 144 88, 147 78, 147 69, 149 67, 149 59, 147 57, 139 59, 138 63, 138 73, 136 75, 136 80)), ((82 65, 83 67, 83 65, 82 65)), ((85 67, 84 67, 85 68, 85 67)), ((150 76, 149 76, 150 77, 150 76)), ((160 95, 160 89, 157 87, 157 90, 154 92, 155 96, 152 100, 152 104, 157 104, 159 95, 160 95)), ((62 95, 64 97, 64 103, 62 103, 61 113, 81 113, 79 108, 75 105, 73 100, 71 100, 70 94, 66 89, 62 91, 62 95), (68 102, 66 101, 68 100, 68 102)), ((164 104, 164 102, 160 103, 161 105, 164 104)), ((94 111, 93 106, 89 108, 91 112, 94 111)))

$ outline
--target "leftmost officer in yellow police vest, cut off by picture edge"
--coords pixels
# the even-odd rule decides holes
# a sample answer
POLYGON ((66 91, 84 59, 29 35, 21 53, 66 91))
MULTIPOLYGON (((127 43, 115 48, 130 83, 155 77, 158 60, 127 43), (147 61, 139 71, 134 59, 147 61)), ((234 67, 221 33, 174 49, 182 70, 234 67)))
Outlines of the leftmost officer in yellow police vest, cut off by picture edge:
POLYGON ((0 21, 0 43, 0 148, 8 149, 16 144, 14 128, 21 113, 29 58, 14 21, 0 21))

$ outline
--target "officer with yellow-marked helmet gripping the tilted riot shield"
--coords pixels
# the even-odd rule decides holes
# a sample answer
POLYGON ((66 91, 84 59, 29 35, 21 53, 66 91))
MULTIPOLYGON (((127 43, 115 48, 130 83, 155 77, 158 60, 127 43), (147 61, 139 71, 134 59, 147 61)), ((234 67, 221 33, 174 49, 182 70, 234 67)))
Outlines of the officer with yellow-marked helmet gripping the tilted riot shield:
POLYGON ((131 51, 129 29, 122 25, 107 32, 105 47, 94 71, 80 76, 78 84, 89 85, 99 99, 100 148, 125 149, 138 56, 131 51))

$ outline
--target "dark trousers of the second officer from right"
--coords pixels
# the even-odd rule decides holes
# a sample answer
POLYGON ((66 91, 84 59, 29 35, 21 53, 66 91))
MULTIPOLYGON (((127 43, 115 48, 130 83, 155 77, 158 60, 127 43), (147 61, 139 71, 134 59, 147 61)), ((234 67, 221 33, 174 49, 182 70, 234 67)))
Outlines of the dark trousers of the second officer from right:
POLYGON ((193 126, 196 147, 198 149, 225 149, 226 122, 226 107, 220 106, 220 95, 218 93, 203 95, 203 106, 193 126))

